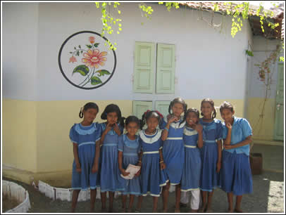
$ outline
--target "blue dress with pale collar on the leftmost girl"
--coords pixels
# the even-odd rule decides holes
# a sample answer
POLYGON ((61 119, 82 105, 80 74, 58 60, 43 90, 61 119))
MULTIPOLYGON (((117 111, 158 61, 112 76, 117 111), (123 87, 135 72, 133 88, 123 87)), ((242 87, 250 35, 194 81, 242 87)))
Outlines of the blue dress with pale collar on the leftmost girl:
POLYGON ((101 126, 94 122, 90 126, 74 124, 70 129, 70 141, 77 144, 78 158, 81 173, 76 171, 75 159, 73 160, 72 189, 87 190, 97 188, 97 173, 92 173, 94 164, 95 143, 101 138, 101 126))

